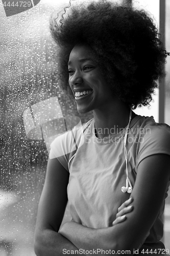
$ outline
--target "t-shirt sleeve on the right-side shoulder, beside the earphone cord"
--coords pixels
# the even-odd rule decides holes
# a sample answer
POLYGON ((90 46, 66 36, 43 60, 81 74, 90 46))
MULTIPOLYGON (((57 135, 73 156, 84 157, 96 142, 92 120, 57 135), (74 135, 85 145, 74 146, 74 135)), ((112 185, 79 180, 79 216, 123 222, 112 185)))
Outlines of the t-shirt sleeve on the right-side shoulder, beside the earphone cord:
POLYGON ((152 122, 141 131, 136 151, 137 167, 144 158, 155 154, 170 155, 170 127, 167 124, 152 122))

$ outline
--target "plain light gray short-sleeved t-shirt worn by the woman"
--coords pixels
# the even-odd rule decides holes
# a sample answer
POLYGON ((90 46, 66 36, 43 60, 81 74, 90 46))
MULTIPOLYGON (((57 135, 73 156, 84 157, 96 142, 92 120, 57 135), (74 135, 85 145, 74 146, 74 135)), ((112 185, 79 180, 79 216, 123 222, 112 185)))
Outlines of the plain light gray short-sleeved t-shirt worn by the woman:
MULTIPOLYGON (((94 119, 91 119, 83 125, 83 133, 80 127, 74 131, 76 141, 80 143, 83 140, 77 150, 71 133, 58 136, 51 144, 50 157, 56 156, 70 173, 67 194, 72 220, 87 227, 104 228, 112 226, 118 207, 130 197, 121 190, 122 186, 126 186, 126 127, 104 139, 95 136, 94 127, 94 119), (74 150, 71 151, 71 147, 74 150)), ((154 154, 170 155, 170 127, 156 123, 153 117, 136 116, 130 123, 126 148, 128 177, 134 186, 137 167, 144 158, 154 154)), ((168 186, 164 199, 167 190, 168 186)), ((164 201, 145 245, 158 243, 162 238, 163 210, 164 201)))

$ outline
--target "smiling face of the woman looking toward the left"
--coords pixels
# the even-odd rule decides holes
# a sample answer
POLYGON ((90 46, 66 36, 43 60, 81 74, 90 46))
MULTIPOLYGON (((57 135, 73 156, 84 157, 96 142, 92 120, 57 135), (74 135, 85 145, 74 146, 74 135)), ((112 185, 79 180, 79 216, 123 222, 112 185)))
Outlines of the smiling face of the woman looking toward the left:
POLYGON ((113 95, 101 74, 101 69, 92 60, 89 48, 76 45, 68 61, 69 86, 75 95, 79 113, 107 108, 113 103, 113 95))

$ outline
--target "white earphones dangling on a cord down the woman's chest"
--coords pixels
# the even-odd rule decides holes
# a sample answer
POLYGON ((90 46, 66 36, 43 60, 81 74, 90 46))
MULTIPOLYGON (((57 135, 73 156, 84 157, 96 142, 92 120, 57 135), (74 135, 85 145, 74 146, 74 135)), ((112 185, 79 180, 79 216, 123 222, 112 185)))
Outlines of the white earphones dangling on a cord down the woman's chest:
POLYGON ((123 191, 123 193, 126 193, 126 192, 132 193, 132 189, 133 189, 130 179, 128 178, 128 153, 126 150, 128 129, 129 129, 131 118, 132 118, 132 110, 130 111, 129 123, 126 127, 125 139, 124 139, 124 152, 125 152, 125 160, 126 160, 126 187, 121 187, 121 190, 123 191))

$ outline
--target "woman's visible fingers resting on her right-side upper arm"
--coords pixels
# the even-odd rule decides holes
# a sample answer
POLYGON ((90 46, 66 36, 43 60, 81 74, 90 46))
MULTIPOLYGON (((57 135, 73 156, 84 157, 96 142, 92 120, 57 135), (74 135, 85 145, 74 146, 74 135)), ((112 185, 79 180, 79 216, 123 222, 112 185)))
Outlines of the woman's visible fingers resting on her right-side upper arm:
POLYGON ((129 198, 125 203, 123 203, 119 208, 116 214, 116 219, 113 221, 112 225, 123 222, 126 220, 126 215, 128 212, 133 210, 133 205, 130 205, 133 202, 133 198, 129 198), (129 206, 130 205, 130 206, 129 206))

